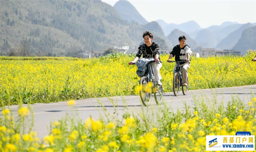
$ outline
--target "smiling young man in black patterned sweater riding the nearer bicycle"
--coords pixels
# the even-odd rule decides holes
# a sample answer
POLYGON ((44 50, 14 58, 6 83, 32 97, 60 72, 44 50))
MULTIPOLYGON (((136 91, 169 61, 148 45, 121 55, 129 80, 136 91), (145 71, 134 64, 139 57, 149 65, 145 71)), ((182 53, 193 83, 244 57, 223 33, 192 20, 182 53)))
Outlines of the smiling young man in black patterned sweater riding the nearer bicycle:
POLYGON ((133 61, 130 61, 128 64, 132 65, 133 63, 135 63, 136 61, 139 60, 139 58, 141 57, 141 55, 143 55, 143 58, 154 58, 155 61, 158 61, 159 63, 153 62, 153 72, 154 72, 154 81, 157 83, 157 85, 162 85, 161 83, 161 79, 162 76, 160 75, 160 68, 162 67, 162 61, 159 58, 159 53, 160 53, 160 49, 159 49, 159 45, 156 44, 155 42, 152 42, 153 40, 153 34, 150 31, 145 31, 143 33, 143 38, 144 38, 144 44, 140 45, 138 48, 138 52, 136 54, 136 57, 134 58, 133 61))

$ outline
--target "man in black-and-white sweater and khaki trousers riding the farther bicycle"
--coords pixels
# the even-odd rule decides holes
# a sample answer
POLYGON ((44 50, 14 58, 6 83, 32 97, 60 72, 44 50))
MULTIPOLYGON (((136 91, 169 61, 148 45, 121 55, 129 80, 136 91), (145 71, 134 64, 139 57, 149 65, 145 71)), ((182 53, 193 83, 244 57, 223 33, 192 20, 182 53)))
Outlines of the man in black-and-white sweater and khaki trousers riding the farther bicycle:
MULTIPOLYGON (((190 68, 190 55, 192 51, 190 47, 186 44, 186 37, 180 36, 178 45, 174 46, 172 52, 170 53, 169 59, 167 62, 171 62, 172 57, 175 56, 175 61, 186 60, 186 62, 181 63, 182 67, 182 83, 184 86, 188 86, 188 68, 190 68)), ((173 74, 175 72, 177 64, 174 67, 173 74)))

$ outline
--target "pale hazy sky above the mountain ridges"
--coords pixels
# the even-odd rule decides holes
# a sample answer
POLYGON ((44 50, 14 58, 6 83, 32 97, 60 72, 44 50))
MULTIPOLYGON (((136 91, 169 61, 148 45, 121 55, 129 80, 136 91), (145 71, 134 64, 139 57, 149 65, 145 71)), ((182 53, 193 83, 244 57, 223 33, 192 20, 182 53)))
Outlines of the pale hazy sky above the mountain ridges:
MULTIPOLYGON (((111 6, 118 0, 101 0, 111 6)), ((201 28, 225 21, 256 22, 256 0, 128 0, 148 21, 181 24, 196 21, 201 28)))

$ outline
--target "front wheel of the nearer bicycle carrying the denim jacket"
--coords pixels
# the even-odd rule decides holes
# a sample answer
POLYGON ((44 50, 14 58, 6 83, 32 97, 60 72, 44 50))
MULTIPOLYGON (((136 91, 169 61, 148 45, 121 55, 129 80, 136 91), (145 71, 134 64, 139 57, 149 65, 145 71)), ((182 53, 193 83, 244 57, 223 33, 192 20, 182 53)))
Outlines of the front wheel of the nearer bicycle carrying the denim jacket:
POLYGON ((142 76, 140 78, 140 100, 144 106, 149 106, 152 96, 152 84, 148 83, 148 77, 142 76))

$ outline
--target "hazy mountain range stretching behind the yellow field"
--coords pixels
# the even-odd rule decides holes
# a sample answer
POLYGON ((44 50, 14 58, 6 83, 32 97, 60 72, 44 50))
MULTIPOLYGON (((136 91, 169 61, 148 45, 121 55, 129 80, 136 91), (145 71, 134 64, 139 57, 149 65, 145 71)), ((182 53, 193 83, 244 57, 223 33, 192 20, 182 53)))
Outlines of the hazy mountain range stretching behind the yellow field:
POLYGON ((242 43, 256 49, 256 40, 250 35, 256 23, 224 22, 201 28, 193 20, 182 24, 147 22, 125 0, 114 7, 100 0, 4 0, 0 7, 0 55, 9 55, 21 42, 29 45, 30 55, 38 56, 74 56, 79 50, 103 52, 113 46, 130 46, 133 53, 143 43, 146 30, 153 33, 153 41, 162 45, 162 50, 172 49, 181 35, 196 51, 210 47, 244 52, 248 48, 240 47, 242 43))

